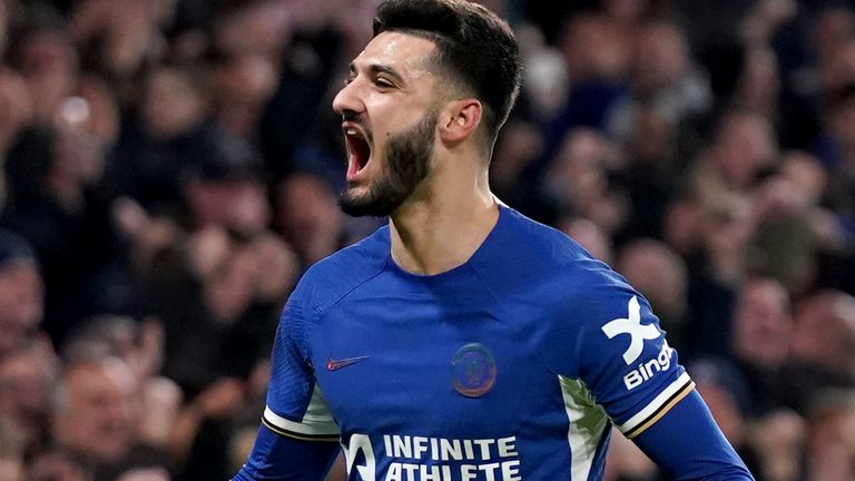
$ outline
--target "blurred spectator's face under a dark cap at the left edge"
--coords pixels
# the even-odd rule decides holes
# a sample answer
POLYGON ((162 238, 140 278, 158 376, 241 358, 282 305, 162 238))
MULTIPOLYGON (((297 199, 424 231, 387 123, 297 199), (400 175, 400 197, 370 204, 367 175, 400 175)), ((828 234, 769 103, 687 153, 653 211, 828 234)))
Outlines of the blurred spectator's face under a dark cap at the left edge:
POLYGON ((0 354, 19 345, 41 323, 43 287, 31 259, 0 266, 0 354))

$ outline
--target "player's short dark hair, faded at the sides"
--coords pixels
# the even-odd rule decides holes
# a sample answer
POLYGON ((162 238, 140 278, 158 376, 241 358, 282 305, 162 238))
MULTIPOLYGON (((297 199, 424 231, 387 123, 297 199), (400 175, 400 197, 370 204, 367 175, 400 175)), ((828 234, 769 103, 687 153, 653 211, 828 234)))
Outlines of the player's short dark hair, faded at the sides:
POLYGON ((468 0, 385 0, 376 9, 374 36, 401 31, 436 43, 435 62, 481 100, 494 138, 517 100, 520 48, 510 26, 468 0))

